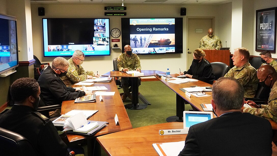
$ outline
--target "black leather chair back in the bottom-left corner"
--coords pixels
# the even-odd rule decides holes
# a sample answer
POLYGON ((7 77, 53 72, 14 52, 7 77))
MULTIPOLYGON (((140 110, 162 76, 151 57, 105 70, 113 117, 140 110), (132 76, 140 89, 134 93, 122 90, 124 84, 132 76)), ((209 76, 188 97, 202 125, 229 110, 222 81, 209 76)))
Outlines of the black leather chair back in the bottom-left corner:
POLYGON ((0 127, 0 155, 39 155, 34 146, 22 135, 0 127))

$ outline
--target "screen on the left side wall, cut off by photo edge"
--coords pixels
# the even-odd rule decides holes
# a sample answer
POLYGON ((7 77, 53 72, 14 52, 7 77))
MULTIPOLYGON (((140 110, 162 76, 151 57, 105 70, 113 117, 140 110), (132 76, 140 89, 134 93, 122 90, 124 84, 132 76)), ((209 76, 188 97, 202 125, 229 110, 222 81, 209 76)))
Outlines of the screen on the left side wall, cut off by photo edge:
POLYGON ((16 17, 0 14, 0 74, 17 66, 16 17))

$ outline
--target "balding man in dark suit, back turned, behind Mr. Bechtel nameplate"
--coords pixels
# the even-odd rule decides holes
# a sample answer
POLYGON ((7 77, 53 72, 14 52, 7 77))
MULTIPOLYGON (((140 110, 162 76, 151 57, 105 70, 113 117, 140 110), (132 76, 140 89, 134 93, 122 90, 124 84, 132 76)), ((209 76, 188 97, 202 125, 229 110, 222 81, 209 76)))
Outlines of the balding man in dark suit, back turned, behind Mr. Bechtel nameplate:
POLYGON ((212 86, 211 100, 218 117, 191 126, 179 156, 271 155, 271 124, 264 118, 241 112, 243 95, 238 80, 218 79, 212 86))

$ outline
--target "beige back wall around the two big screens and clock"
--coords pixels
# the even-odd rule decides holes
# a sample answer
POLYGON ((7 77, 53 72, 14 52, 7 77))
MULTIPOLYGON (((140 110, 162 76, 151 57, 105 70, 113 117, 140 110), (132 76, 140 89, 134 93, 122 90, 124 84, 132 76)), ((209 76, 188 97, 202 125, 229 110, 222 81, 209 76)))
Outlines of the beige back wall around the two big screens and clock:
MULTIPOLYGON (((108 17, 110 18, 110 29, 119 28, 121 30, 122 16, 104 16, 105 5, 73 5, 73 4, 50 4, 37 5, 31 3, 32 13, 32 31, 34 55, 42 62, 52 62, 54 57, 43 57, 43 41, 42 41, 42 18, 48 17, 108 17), (38 7, 45 8, 45 16, 38 16, 38 7)), ((124 17, 183 17, 183 54, 165 54, 156 56, 139 55, 142 65, 142 70, 159 70, 166 71, 169 68, 171 73, 178 73, 179 68, 186 69, 186 16, 180 16, 180 8, 187 8, 187 16, 214 16, 216 18, 215 32, 217 36, 223 36, 224 41, 228 43, 231 39, 230 19, 231 10, 230 4, 219 6, 177 6, 177 5, 125 5, 127 6, 127 16, 124 17), (159 9, 153 9, 159 8, 159 9), (223 17, 226 13, 226 16, 223 17), (220 14, 220 16, 219 16, 220 14), (221 25, 220 23, 224 23, 221 25), (220 26, 219 26, 220 25, 220 26), (226 27, 225 27, 226 26, 226 27), (224 31, 219 31, 224 29, 224 31), (177 63, 178 62, 178 63, 177 63)), ((124 30, 121 30, 124 31, 124 30)), ((121 41, 121 36, 119 37, 121 41)), ((112 42, 113 44, 121 42, 112 42)), ((121 47, 122 48, 122 47, 121 47)), ((111 49, 111 56, 92 56, 86 57, 86 61, 82 65, 86 70, 99 71, 99 74, 104 74, 113 69, 112 59, 118 57, 121 49, 111 49)), ((66 59, 69 59, 66 58, 66 59)))

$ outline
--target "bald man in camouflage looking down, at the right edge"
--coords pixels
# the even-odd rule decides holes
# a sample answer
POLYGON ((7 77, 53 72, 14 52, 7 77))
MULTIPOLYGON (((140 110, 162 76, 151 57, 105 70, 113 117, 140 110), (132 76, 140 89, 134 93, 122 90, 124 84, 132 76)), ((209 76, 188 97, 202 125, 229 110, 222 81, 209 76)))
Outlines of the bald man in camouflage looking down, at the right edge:
POLYGON ((248 112, 277 122, 277 73, 272 66, 265 64, 258 69, 257 76, 260 80, 261 86, 272 88, 268 104, 257 105, 253 101, 247 101, 250 102, 248 103, 249 105, 252 105, 255 108, 245 107, 243 108, 243 112, 248 112))

